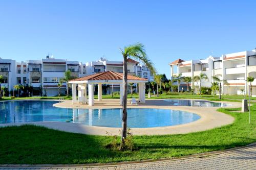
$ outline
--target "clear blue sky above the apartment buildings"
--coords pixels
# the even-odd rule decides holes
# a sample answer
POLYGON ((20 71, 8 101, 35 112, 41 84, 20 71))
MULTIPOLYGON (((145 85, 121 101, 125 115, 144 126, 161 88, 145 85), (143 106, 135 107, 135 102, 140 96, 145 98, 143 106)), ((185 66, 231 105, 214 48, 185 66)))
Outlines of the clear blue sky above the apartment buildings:
POLYGON ((256 1, 0 1, 0 57, 122 60, 141 42, 159 73, 168 63, 252 50, 256 1))

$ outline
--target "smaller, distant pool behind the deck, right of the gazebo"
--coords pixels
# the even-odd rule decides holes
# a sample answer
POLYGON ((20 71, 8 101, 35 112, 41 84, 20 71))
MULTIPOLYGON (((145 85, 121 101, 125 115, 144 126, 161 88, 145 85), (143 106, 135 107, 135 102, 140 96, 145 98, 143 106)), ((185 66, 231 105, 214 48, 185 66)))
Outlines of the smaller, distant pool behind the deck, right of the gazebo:
POLYGON ((164 100, 169 102, 170 106, 196 106, 196 107, 226 107, 231 106, 226 103, 218 103, 218 102, 209 102, 209 101, 200 101, 200 100, 173 100, 167 99, 164 100))

